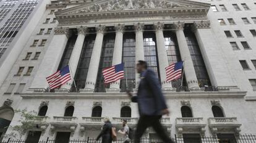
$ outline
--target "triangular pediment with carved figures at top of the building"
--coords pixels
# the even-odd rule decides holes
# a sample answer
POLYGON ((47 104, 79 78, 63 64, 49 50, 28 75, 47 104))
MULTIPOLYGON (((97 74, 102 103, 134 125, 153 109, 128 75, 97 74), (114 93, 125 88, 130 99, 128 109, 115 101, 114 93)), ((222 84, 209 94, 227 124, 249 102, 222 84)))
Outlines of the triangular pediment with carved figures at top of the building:
POLYGON ((187 0, 98 0, 56 12, 56 15, 103 14, 106 12, 132 12, 134 10, 196 9, 210 4, 187 0))

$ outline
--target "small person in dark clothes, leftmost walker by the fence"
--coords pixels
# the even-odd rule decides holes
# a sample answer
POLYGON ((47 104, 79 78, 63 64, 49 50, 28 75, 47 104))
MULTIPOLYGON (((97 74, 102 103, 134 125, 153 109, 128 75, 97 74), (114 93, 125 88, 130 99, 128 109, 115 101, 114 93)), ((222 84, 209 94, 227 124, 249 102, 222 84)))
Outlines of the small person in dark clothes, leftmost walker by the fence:
POLYGON ((113 141, 112 139, 112 124, 109 120, 109 118, 104 118, 104 125, 101 129, 101 133, 96 138, 96 141, 98 141, 101 137, 101 143, 111 143, 113 141))

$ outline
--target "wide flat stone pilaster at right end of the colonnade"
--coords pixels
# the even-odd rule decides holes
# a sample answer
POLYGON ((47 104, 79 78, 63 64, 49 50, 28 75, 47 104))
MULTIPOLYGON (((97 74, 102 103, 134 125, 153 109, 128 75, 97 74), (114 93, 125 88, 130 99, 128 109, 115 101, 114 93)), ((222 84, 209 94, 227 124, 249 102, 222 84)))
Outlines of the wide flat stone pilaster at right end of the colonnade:
POLYGON ((211 84, 219 88, 237 86, 232 80, 221 48, 210 29, 210 21, 194 22, 192 30, 197 38, 211 84))

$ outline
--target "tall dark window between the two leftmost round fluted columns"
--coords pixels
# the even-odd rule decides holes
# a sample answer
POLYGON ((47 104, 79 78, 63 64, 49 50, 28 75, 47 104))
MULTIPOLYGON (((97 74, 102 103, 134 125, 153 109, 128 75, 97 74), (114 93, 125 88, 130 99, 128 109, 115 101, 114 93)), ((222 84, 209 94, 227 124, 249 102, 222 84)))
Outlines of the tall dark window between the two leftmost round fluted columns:
MULTIPOLYGON (((77 84, 77 88, 79 89, 85 88, 85 82, 87 78, 88 68, 90 65, 90 60, 92 57, 95 38, 96 38, 95 34, 90 34, 86 36, 85 42, 83 43, 82 54, 80 55, 77 72, 75 73, 75 84, 77 84)), ((74 88, 74 85, 73 85, 73 88, 74 88)))

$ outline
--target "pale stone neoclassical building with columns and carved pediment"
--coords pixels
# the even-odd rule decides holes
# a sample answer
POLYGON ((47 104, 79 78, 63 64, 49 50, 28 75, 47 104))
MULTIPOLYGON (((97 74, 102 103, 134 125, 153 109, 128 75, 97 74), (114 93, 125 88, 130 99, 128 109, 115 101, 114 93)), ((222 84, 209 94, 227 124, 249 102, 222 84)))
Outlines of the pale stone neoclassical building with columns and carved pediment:
MULTIPOLYGON (((256 133, 255 9, 253 0, 44 0, 1 84, 2 141, 90 142, 104 117, 135 129, 138 108, 126 92, 136 95, 138 60, 159 78, 171 112, 161 123, 177 142, 256 133), (166 82, 165 68, 179 61, 183 81, 166 82), (119 63, 125 78, 105 84, 103 69, 119 63), (66 65, 72 80, 50 90, 46 77, 66 65)), ((151 128, 143 139, 161 142, 151 128)))

